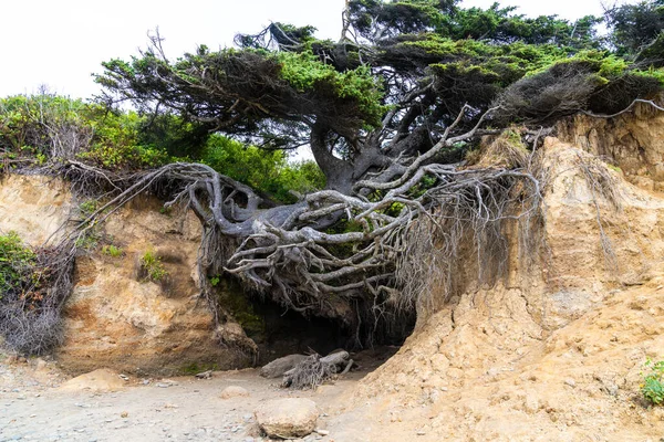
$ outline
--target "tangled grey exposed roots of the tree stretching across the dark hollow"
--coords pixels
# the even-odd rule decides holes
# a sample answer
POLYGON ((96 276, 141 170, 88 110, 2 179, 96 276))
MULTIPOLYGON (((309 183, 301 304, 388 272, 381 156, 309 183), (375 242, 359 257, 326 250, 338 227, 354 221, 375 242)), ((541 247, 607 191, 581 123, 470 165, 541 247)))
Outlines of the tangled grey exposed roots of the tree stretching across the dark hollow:
MULTIPOLYGON (((322 190, 271 209, 261 209, 249 187, 206 165, 177 162, 116 177, 65 162, 59 175, 70 178, 75 190, 96 189, 102 198, 59 248, 75 244, 139 194, 160 192, 169 198, 166 207, 184 204, 203 224, 199 281, 217 325, 226 318, 208 278, 227 273, 288 308, 341 318, 357 328, 357 344, 365 344, 381 324, 427 297, 419 295, 421 282, 434 269, 443 269, 436 271, 440 283, 450 287, 466 239, 483 263, 480 282, 505 273, 506 223, 529 222, 539 213, 540 182, 520 146, 499 139, 502 145, 494 146, 491 155, 504 156, 501 167, 436 162, 438 154, 476 135, 486 115, 466 134, 450 135, 469 110, 465 107, 428 151, 367 175, 353 194, 322 190), (361 324, 369 329, 366 339, 360 336, 361 324)), ((75 246, 69 253, 73 256, 75 246)))

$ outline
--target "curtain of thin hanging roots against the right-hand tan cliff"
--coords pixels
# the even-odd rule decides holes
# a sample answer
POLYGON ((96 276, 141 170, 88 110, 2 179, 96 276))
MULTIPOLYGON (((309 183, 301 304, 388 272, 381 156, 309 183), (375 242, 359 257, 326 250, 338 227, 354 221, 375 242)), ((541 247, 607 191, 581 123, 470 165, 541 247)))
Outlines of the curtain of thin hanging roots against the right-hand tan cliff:
MULTIPOLYGON (((499 137, 484 152, 512 169, 469 169, 452 191, 434 188, 426 217, 407 232, 396 263, 400 309, 434 309, 463 292, 464 281, 492 285, 507 274, 509 249, 518 248, 525 265, 536 262, 543 238, 542 187, 547 177, 539 151, 527 152, 499 137), (498 158, 500 156, 500 158, 498 158), (517 243, 509 235, 517 233, 517 243)), ((478 166, 485 162, 479 158, 478 166)), ((477 167, 477 166, 476 166, 477 167)))

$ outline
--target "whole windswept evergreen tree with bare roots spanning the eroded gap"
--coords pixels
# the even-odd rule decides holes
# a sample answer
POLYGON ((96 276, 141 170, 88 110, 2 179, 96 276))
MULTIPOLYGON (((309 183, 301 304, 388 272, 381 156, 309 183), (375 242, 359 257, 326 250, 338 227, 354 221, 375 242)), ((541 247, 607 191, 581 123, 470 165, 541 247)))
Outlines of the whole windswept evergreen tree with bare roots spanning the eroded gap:
POLYGON ((110 103, 175 112, 262 149, 308 144, 326 189, 264 208, 255 190, 208 166, 175 164, 112 203, 167 179, 205 227, 204 276, 239 275, 290 308, 349 324, 384 313, 422 271, 404 275, 413 270, 404 253, 417 243, 413 220, 429 219, 454 241, 470 227, 480 246, 501 242, 499 223, 517 207, 537 211, 539 183, 522 162, 463 167, 480 135, 616 112, 661 87, 661 73, 603 49, 599 19, 512 12, 351 0, 339 42, 272 23, 238 35, 238 48, 199 46, 176 61, 154 35, 132 61, 103 64, 96 81, 110 103), (620 99, 606 99, 616 92, 620 99))

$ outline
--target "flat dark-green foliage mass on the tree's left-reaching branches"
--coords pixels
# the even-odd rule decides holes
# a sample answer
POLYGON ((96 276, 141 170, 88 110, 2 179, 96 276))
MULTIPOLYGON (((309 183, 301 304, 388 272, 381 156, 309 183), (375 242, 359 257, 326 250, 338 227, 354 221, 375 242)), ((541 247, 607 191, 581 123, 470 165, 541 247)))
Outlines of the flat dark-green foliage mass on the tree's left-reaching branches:
POLYGON ((103 65, 105 72, 95 81, 142 109, 154 110, 151 106, 160 101, 165 108, 184 109, 187 117, 215 122, 227 133, 249 138, 272 133, 274 125, 291 130, 292 138, 293 126, 302 127, 293 122, 303 116, 335 119, 347 129, 375 125, 380 117, 374 98, 381 93, 373 75, 365 69, 330 70, 310 49, 210 52, 199 46, 170 62, 153 48, 131 62, 103 65))

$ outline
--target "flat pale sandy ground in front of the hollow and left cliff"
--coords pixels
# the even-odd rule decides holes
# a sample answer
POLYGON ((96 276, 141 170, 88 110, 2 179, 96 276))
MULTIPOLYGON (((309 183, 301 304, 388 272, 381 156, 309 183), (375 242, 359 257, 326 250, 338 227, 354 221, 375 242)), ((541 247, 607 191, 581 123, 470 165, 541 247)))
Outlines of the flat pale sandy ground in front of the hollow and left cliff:
MULTIPOLYGON (((53 362, 0 356, 0 441, 268 441, 259 434, 253 410, 263 401, 309 398, 321 415, 318 429, 304 441, 369 441, 370 429, 357 417, 340 413, 343 397, 371 368, 351 372, 317 391, 281 389, 278 379, 258 370, 217 371, 210 379, 168 379, 79 382, 53 362), (69 388, 68 388, 69 386, 69 388), (249 397, 221 399, 229 386, 249 397), (95 389, 102 391, 94 391, 95 389)), ((76 378, 79 379, 79 378, 76 378)))

